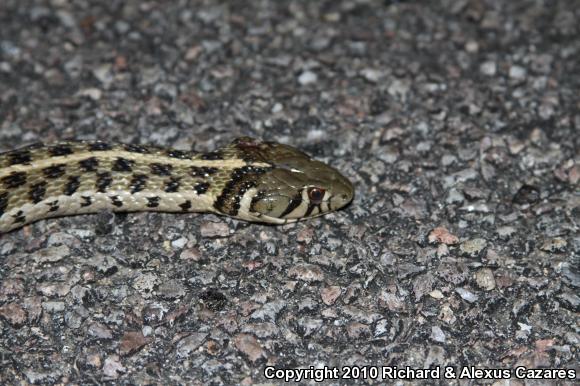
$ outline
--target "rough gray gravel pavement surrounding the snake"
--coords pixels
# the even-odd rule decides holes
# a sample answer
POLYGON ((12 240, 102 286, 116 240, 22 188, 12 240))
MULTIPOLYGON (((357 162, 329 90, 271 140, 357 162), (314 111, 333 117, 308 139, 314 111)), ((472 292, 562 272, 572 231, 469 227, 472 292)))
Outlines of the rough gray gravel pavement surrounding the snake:
POLYGON ((2 0, 0 151, 252 135, 356 199, 284 227, 102 213, 0 236, 0 383, 578 372, 578 20, 570 0, 2 0))

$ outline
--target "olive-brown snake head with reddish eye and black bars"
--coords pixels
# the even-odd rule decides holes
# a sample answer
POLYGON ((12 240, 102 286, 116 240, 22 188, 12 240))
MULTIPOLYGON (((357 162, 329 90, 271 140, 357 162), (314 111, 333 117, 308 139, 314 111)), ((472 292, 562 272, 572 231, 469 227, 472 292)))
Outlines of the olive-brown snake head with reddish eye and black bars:
POLYGON ((238 138, 233 144, 261 166, 240 213, 258 222, 283 224, 341 209, 352 201, 352 183, 333 167, 288 145, 238 138))

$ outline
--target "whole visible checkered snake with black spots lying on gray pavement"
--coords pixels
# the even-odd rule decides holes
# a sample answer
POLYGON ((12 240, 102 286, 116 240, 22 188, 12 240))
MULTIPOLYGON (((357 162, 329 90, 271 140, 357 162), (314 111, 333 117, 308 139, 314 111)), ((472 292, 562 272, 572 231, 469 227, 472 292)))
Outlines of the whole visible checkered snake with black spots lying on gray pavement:
POLYGON ((206 153, 102 141, 0 153, 0 233, 101 211, 208 212, 287 224, 341 209, 353 196, 335 168, 251 137, 206 153))

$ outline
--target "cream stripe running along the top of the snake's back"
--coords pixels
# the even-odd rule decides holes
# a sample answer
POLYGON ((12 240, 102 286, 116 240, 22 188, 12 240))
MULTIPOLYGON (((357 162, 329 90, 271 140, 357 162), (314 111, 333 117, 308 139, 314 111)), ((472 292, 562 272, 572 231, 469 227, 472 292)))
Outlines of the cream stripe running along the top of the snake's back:
POLYGON ((223 168, 223 169, 235 169, 244 166, 254 166, 254 167, 269 167, 270 164, 266 162, 253 162, 248 164, 246 161, 235 158, 226 160, 198 160, 198 159, 179 159, 171 158, 166 156, 160 156, 159 154, 141 154, 132 153, 128 151, 119 150, 108 150, 108 151, 86 151, 82 153, 74 153, 65 156, 48 157, 45 159, 37 160, 31 162, 29 165, 12 165, 4 169, 0 169, 0 178, 9 175, 13 172, 26 172, 30 169, 42 169, 55 164, 70 164, 78 162, 87 158, 95 157, 100 159, 116 159, 118 157, 132 160, 141 163, 161 163, 170 164, 173 166, 186 166, 186 167, 213 167, 213 168, 223 168))

